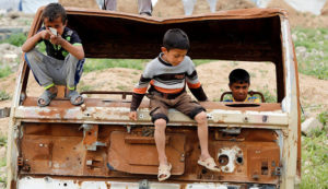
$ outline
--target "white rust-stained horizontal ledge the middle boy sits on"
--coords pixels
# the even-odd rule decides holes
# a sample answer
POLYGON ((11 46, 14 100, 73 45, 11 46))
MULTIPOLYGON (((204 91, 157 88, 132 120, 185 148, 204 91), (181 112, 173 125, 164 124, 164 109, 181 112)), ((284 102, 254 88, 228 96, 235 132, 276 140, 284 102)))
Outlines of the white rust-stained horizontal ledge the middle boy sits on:
MULTIPOLYGON (((138 111, 138 121, 129 120, 129 104, 128 103, 108 103, 103 107, 87 104, 89 99, 85 99, 86 104, 84 108, 66 106, 49 106, 49 107, 38 107, 38 106, 20 106, 15 111, 15 117, 20 119, 38 119, 40 121, 69 121, 69 122, 98 122, 98 123, 118 123, 118 125, 152 125, 150 118, 150 109, 140 108, 138 111), (121 106, 120 106, 121 105, 121 106)), ((69 103, 66 101, 56 101, 56 103, 69 103)), ((101 104, 102 99, 98 99, 101 104)), ((97 104, 97 103, 94 103, 97 104)), ((241 107, 227 107, 223 103, 207 103, 202 104, 208 110, 209 126, 220 127, 221 125, 229 125, 230 127, 235 127, 234 125, 241 125, 239 127, 251 127, 251 128, 284 128, 288 126, 288 114, 282 113, 282 110, 272 108, 272 111, 263 111, 261 107, 251 107, 248 109, 241 107), (216 107, 215 107, 216 106, 216 107), (209 107, 209 108, 208 108, 209 107), (222 109, 220 109, 222 107, 222 109), (225 109, 223 109, 225 107, 225 109), (210 109, 212 108, 212 109, 210 109), (251 110, 254 109, 254 110, 251 110), (272 126, 272 127, 270 127, 272 126)), ((266 104, 259 105, 266 106, 266 104)), ((273 106, 274 107, 274 106, 273 106)), ((270 108, 267 108, 270 109, 270 108)), ((169 109, 168 117, 172 126, 192 126, 195 120, 191 120, 184 114, 169 109)))

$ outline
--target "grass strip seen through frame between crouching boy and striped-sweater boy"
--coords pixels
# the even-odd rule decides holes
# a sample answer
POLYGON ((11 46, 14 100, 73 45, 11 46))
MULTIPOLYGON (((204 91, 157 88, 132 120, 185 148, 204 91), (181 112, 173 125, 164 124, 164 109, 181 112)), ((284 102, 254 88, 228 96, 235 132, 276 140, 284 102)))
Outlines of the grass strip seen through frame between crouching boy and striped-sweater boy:
POLYGON ((104 70, 108 68, 130 68, 143 70, 147 59, 87 59, 83 66, 84 72, 104 70))

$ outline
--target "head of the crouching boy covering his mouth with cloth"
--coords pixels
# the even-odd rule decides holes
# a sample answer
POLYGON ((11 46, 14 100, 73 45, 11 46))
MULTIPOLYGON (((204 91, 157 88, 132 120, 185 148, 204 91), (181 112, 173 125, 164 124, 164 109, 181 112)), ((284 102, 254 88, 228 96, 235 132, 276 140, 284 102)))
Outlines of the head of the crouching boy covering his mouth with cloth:
POLYGON ((67 14, 59 3, 49 3, 43 12, 43 21, 46 28, 54 27, 61 35, 67 24, 67 14))

